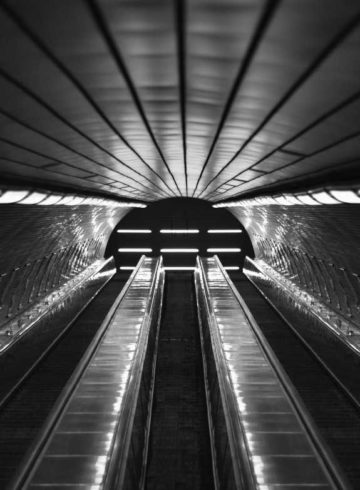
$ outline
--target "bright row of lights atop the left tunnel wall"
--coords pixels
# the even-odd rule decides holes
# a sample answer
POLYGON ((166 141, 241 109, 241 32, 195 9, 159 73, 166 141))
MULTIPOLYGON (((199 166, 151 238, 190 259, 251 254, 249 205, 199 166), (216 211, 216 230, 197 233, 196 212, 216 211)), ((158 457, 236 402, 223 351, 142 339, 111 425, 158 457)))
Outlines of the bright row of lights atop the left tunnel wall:
POLYGON ((146 208, 140 202, 116 201, 105 197, 64 194, 49 190, 0 189, 0 204, 24 204, 39 206, 105 206, 111 208, 146 208))

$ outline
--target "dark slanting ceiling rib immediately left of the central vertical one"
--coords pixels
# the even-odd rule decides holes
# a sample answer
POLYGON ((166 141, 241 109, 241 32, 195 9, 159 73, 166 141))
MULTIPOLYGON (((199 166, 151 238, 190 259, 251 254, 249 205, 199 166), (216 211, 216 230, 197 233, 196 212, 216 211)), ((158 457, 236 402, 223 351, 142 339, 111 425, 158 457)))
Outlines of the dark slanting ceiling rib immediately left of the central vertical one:
POLYGON ((118 69, 120 70, 122 76, 124 77, 124 80, 127 83, 127 86, 128 86, 129 91, 132 95, 133 101, 134 101, 134 103, 137 107, 137 110, 138 110, 138 112, 139 112, 139 114, 143 120, 143 123, 144 123, 144 125, 145 125, 145 127, 149 133, 149 136, 150 136, 154 146, 156 147, 163 164, 165 165, 167 171, 169 172, 169 174, 170 174, 170 176, 171 176, 171 178, 172 178, 172 180, 173 180, 173 182, 174 182, 174 184, 175 184, 175 186, 179 192, 179 195, 181 196, 182 193, 180 191, 180 188, 176 182, 176 179, 175 179, 173 173, 171 172, 171 169, 170 169, 170 167, 169 167, 169 165, 168 165, 168 163, 164 157, 164 154, 162 153, 162 150, 161 150, 161 148, 160 148, 160 146, 159 146, 159 144, 155 138, 155 135, 151 129, 150 123, 148 121, 148 118, 147 118, 145 111, 144 111, 144 108, 142 106, 140 97, 139 97, 137 90, 135 88, 135 85, 131 79, 130 73, 129 73, 128 69, 126 68, 125 63, 122 59, 120 50, 119 50, 111 32, 110 32, 110 29, 109 29, 109 26, 106 22, 105 16, 104 16, 104 14, 103 14, 103 12, 102 12, 101 8, 99 7, 96 0, 85 0, 85 1, 86 1, 88 8, 89 8, 90 13, 92 14, 94 22, 99 29, 99 32, 102 34, 102 36, 106 42, 106 45, 107 45, 111 55, 113 56, 113 58, 117 64, 118 69))

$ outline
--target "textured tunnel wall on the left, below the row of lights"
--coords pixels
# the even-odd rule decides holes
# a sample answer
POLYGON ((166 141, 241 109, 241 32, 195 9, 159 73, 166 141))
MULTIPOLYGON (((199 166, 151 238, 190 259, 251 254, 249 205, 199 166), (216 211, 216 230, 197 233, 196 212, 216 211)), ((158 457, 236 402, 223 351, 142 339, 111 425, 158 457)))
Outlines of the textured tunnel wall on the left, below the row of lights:
POLYGON ((0 325, 102 258, 111 231, 127 212, 0 205, 0 325))

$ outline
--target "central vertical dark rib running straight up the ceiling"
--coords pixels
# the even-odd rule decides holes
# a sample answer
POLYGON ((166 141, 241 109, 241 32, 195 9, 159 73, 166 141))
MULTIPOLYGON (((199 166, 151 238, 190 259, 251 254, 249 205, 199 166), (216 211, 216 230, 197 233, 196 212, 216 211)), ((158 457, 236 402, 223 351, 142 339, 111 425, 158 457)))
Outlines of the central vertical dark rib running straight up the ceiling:
POLYGON ((181 113, 182 144, 184 155, 185 172, 185 195, 188 196, 188 172, 187 172, 187 149, 186 149, 186 2, 175 0, 175 22, 177 37, 177 57, 179 70, 179 96, 181 113))

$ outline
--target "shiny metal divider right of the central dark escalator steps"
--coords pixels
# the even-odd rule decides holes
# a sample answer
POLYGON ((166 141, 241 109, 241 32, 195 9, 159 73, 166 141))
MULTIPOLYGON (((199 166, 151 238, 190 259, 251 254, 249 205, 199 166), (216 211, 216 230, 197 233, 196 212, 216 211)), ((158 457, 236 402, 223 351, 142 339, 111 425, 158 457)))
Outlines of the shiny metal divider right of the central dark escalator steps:
POLYGON ((198 259, 198 266, 236 488, 344 488, 220 262, 198 259))

